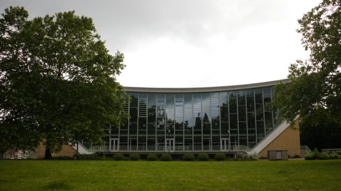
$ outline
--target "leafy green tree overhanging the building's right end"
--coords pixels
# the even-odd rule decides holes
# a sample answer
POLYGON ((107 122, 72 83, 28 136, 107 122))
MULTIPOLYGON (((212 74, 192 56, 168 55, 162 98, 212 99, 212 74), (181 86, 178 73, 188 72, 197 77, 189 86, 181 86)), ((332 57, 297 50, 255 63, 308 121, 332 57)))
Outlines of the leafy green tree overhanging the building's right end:
MULTIPOLYGON (((341 124, 341 1, 323 0, 298 22, 310 58, 291 64, 291 83, 275 86, 274 106, 291 123, 297 115, 307 118, 323 111, 341 124)), ((309 119, 318 124, 318 118, 309 119)))

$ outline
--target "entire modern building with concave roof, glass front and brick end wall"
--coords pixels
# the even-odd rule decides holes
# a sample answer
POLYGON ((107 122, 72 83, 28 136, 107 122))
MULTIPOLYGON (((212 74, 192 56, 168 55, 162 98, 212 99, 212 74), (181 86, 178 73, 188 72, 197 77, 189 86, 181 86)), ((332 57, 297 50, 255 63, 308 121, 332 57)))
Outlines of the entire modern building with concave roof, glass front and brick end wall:
POLYGON ((78 152, 266 157, 267 151, 287 150, 290 156, 300 155, 298 120, 295 130, 270 110, 279 82, 289 80, 207 88, 125 87, 131 101, 124 110, 130 119, 106 127, 103 145, 83 141, 78 152))

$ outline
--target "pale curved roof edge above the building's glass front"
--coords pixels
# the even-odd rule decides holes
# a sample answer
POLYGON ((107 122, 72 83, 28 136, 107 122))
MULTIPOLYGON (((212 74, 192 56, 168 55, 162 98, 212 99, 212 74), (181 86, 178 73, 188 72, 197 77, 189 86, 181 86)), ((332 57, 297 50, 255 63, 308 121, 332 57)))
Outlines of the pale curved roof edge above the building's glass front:
POLYGON ((148 92, 148 93, 199 93, 199 92, 221 92, 231 90, 243 90, 272 86, 277 83, 289 83, 290 79, 266 81, 260 83, 249 83, 242 85, 218 86, 218 87, 199 87, 199 88, 146 88, 146 87, 124 87, 127 92, 148 92))

